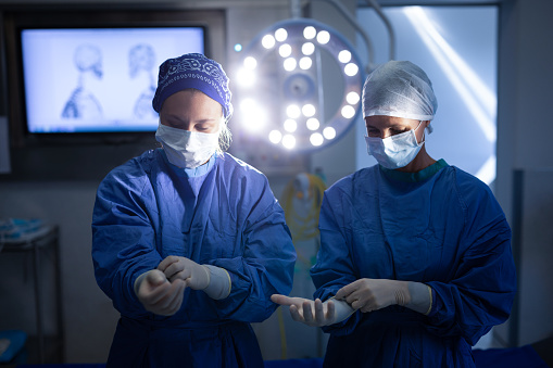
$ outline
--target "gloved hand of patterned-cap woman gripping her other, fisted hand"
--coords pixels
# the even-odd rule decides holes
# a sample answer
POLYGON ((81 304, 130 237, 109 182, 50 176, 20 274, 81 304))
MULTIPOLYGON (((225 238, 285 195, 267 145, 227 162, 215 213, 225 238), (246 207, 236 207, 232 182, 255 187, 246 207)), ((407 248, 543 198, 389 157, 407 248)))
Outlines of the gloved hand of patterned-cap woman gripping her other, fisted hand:
POLYGON ((169 255, 158 265, 158 269, 171 282, 180 279, 193 290, 204 290, 210 284, 209 269, 185 257, 169 255))

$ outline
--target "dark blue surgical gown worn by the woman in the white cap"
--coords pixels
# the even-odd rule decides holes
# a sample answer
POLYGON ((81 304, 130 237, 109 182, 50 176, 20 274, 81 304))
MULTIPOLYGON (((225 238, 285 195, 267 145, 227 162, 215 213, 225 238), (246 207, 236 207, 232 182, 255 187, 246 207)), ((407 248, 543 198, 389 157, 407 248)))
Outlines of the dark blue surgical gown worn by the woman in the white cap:
POLYGON ((488 186, 443 160, 339 180, 319 229, 315 297, 362 278, 432 289, 427 316, 393 305, 325 327, 326 367, 475 367, 470 345, 510 316, 516 275, 503 211, 488 186))

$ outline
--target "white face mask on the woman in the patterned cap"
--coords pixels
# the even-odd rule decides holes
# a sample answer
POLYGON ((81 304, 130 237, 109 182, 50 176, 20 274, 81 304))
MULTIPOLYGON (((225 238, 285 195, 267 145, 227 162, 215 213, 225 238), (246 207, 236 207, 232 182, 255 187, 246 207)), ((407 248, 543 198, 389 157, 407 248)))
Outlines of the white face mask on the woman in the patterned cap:
POLYGON ((160 124, 155 140, 175 166, 194 168, 206 163, 218 148, 218 132, 197 132, 160 124))

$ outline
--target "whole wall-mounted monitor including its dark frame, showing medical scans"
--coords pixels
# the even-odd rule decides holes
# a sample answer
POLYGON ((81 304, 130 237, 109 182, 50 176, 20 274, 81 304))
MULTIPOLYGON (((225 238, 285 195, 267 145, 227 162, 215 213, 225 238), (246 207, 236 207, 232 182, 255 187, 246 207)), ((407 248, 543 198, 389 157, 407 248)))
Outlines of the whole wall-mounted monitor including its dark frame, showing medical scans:
POLYGON ((189 52, 225 62, 224 11, 104 8, 13 5, 0 14, 0 114, 12 150, 155 142, 160 64, 189 52))

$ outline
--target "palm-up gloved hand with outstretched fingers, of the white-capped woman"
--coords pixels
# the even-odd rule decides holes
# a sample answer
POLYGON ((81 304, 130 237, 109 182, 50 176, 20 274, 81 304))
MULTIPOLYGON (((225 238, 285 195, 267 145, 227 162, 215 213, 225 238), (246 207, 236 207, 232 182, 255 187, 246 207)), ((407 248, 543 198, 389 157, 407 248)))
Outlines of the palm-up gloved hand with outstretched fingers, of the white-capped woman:
POLYGON ((313 327, 337 323, 355 312, 344 302, 336 300, 328 300, 323 303, 319 299, 311 301, 303 297, 273 294, 271 301, 289 306, 293 320, 313 327))

